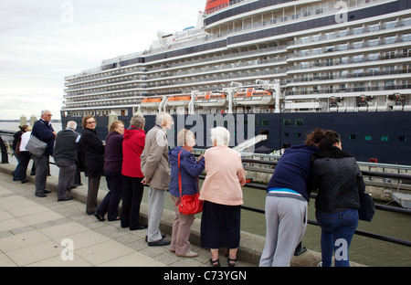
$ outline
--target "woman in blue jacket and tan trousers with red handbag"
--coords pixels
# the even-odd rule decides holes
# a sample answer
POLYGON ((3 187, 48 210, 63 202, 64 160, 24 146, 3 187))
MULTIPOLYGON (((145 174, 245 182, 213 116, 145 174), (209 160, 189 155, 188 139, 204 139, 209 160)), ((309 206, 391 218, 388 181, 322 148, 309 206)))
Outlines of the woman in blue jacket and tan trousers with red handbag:
POLYGON ((193 225, 195 216, 180 213, 177 206, 180 200, 179 174, 181 177, 181 195, 194 195, 199 192, 198 175, 203 172, 205 161, 204 157, 200 157, 198 161, 195 159, 192 154, 194 146, 194 133, 183 129, 177 134, 177 147, 168 153, 171 165, 169 192, 175 205, 170 249, 175 252, 177 257, 184 258, 198 256, 198 253, 191 251, 191 245, 188 241, 190 227, 193 225))

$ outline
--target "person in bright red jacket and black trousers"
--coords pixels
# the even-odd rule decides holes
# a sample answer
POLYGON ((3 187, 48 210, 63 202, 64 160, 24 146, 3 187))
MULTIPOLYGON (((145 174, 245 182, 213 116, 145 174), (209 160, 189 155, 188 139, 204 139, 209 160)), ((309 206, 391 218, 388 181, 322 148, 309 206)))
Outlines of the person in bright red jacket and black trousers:
POLYGON ((130 230, 143 229, 146 225, 140 224, 140 205, 142 204, 141 159, 145 144, 145 132, 143 130, 145 119, 141 113, 132 116, 130 128, 124 131, 122 142, 122 206, 121 227, 129 227, 130 230))

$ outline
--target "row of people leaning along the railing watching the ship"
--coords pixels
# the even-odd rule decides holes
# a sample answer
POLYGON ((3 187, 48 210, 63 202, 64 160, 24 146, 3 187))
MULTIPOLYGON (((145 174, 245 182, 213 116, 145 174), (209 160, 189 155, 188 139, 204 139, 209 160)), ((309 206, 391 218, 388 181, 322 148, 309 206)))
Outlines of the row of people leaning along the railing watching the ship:
MULTIPOLYGON (((180 213, 178 203, 182 195, 199 193, 204 201, 201 246, 210 249, 210 264, 220 266, 218 250, 228 248, 228 265, 236 265, 246 172, 240 154, 228 147, 230 133, 226 128, 211 129, 213 146, 196 158, 195 134, 186 129, 177 133, 177 146, 170 150, 167 131, 174 121, 165 112, 157 114, 147 133, 141 113, 132 116, 127 129, 122 121, 114 121, 105 142, 98 136, 97 121, 91 115, 82 119, 81 134, 76 132, 75 121, 68 121, 66 129, 56 133, 50 120, 50 111, 42 111, 32 130, 25 125, 16 132, 14 180, 26 182, 30 160, 26 143, 30 136, 36 136, 47 143, 47 149, 41 156, 31 155, 36 168, 35 195, 49 193, 45 186, 52 155, 59 167, 58 202, 73 198, 68 190, 77 172, 82 171, 88 177, 88 215, 100 221, 107 215, 109 221, 120 220, 121 227, 130 230, 147 228, 148 246, 170 245, 172 252, 185 258, 198 256, 189 242, 195 215, 180 213), (206 176, 200 189, 198 176, 203 171, 206 176), (101 176, 105 176, 109 191, 98 205, 101 176), (140 220, 144 185, 149 186, 148 225, 140 220), (171 239, 160 230, 166 192, 175 205, 171 239)), ((355 158, 342 151, 337 132, 318 128, 308 134, 305 143, 286 149, 267 185, 267 233, 259 266, 290 266, 307 227, 308 202, 314 190, 318 190, 315 215, 321 227, 321 265, 332 266, 336 241, 343 239, 347 252, 343 259, 335 259, 335 266, 349 266, 348 248, 358 225, 359 195, 364 188, 355 158)))

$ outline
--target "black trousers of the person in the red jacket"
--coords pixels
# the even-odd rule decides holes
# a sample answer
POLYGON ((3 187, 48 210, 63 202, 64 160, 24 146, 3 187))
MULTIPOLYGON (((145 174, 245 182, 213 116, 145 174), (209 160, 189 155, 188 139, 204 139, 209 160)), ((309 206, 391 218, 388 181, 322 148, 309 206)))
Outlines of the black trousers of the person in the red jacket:
POLYGON ((144 185, 142 177, 122 175, 121 227, 136 229, 140 226, 140 205, 144 185))

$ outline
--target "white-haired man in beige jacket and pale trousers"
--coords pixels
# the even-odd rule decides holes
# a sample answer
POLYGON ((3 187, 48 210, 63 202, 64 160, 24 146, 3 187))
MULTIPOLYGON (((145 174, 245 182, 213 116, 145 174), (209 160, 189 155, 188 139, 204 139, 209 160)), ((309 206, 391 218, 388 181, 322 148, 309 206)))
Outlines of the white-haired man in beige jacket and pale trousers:
POLYGON ((170 164, 168 161, 168 143, 166 131, 174 124, 167 113, 158 113, 155 126, 147 132, 142 151, 142 184, 150 185, 147 241, 150 247, 166 246, 170 240, 160 232, 160 220, 163 215, 164 195, 170 184, 170 164))

